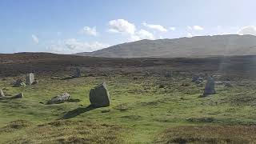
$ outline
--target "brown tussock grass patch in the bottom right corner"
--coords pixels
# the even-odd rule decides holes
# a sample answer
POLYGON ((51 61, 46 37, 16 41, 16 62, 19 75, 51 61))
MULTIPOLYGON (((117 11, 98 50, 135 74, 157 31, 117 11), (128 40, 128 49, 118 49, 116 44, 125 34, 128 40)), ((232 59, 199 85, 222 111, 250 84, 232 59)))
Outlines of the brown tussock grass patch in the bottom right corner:
POLYGON ((178 126, 164 130, 154 143, 236 143, 256 142, 256 126, 178 126))

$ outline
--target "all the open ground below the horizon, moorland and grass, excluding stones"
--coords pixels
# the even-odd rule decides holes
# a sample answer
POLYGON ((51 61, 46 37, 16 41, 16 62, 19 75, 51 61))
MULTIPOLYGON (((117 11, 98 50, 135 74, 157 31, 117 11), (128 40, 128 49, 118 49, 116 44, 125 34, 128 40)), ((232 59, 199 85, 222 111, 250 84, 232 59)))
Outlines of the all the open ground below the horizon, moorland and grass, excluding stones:
POLYGON ((255 58, 0 54, 0 89, 24 94, 0 100, 0 143, 254 143, 255 58), (70 79, 76 67, 82 77, 70 79), (12 87, 29 72, 38 85, 12 87), (193 74, 214 74, 233 87, 219 84, 217 94, 199 98, 205 82, 194 84, 193 74), (89 91, 103 81, 111 106, 91 109, 89 91), (46 105, 64 92, 74 101, 46 105))

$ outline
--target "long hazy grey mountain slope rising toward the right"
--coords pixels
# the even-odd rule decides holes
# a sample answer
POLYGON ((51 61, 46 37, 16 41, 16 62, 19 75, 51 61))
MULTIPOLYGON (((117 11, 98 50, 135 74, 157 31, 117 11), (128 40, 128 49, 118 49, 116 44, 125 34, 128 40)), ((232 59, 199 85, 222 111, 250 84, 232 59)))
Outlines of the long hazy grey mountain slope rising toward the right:
POLYGON ((256 54, 256 36, 215 35, 128 42, 76 55, 107 58, 180 58, 256 54))

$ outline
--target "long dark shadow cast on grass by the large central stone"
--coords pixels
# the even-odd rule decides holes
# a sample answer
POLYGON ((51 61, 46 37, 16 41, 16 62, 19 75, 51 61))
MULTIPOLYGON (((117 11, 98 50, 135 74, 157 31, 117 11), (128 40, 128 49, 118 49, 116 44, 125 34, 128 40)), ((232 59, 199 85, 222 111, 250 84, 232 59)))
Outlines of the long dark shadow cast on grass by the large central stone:
POLYGON ((82 113, 86 113, 90 110, 94 110, 94 106, 87 106, 86 108, 82 108, 82 107, 79 107, 75 110, 71 110, 69 112, 67 112, 62 118, 59 118, 58 120, 60 119, 70 119, 70 118, 74 118, 76 116, 78 116, 79 114, 82 114, 82 113))

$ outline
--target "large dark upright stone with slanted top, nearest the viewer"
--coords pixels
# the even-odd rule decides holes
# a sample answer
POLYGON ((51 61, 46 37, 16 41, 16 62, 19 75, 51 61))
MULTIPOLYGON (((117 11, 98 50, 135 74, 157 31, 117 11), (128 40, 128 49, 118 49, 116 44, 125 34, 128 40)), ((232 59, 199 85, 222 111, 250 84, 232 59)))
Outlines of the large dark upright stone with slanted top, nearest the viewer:
POLYGON ((94 107, 110 106, 110 94, 106 88, 106 82, 90 90, 90 103, 94 107))

